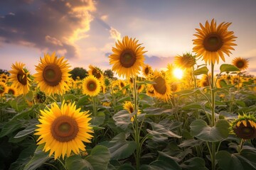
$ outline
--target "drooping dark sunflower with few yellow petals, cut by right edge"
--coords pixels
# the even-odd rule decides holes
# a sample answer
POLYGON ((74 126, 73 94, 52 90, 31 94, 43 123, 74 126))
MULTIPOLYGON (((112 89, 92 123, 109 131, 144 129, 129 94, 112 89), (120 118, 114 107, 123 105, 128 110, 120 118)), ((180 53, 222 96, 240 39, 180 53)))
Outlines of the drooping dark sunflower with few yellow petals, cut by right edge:
POLYGON ((254 115, 238 115, 238 119, 231 123, 231 130, 243 140, 256 137, 256 118, 254 115))

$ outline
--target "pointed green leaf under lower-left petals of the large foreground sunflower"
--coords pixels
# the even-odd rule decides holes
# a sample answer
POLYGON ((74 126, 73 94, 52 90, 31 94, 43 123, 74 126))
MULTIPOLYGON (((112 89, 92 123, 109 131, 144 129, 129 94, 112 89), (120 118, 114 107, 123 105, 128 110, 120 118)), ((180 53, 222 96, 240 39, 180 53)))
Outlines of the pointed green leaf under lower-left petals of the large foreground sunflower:
POLYGON ((39 145, 36 149, 31 160, 26 164, 24 170, 33 170, 40 167, 43 163, 45 163, 48 159, 50 159, 49 154, 43 152, 43 145, 39 145))

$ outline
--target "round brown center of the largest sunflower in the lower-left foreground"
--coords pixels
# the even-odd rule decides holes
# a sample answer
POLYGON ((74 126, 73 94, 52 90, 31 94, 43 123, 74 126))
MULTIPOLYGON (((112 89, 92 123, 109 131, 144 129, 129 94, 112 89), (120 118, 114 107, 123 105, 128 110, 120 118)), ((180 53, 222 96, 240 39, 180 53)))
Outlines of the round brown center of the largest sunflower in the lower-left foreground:
POLYGON ((75 139, 78 131, 78 123, 67 115, 56 118, 50 128, 54 139, 59 142, 68 142, 75 139))

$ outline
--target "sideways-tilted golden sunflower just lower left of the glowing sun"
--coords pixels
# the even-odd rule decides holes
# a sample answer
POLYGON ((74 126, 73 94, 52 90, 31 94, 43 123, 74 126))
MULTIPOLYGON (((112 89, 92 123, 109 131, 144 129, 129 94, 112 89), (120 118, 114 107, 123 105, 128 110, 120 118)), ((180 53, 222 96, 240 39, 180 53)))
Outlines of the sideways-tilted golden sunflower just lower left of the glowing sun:
POLYGON ((147 84, 148 91, 154 91, 156 98, 161 98, 165 101, 171 96, 171 86, 169 79, 166 79, 160 72, 154 71, 149 77, 154 84, 147 84))

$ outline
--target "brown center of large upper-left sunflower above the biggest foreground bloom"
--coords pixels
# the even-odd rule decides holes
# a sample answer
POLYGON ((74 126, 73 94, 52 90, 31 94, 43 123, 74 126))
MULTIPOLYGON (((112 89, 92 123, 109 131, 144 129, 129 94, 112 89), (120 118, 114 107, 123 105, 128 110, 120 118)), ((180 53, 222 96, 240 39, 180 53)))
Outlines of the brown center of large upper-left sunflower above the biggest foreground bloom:
POLYGON ((58 65, 52 64, 43 69, 43 79, 49 86, 57 86, 62 78, 62 72, 58 65))

